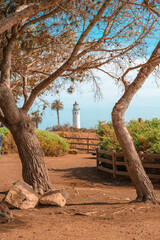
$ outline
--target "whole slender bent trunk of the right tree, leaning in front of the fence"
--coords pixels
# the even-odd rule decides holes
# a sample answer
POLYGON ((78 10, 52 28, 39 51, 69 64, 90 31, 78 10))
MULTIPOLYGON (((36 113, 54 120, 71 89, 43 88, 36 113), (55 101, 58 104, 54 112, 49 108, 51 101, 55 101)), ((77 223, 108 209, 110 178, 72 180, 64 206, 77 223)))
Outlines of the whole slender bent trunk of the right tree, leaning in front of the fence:
POLYGON ((139 155, 134 147, 133 139, 126 128, 124 114, 135 93, 141 88, 146 78, 159 63, 160 42, 153 51, 147 64, 140 69, 136 79, 125 89, 125 93, 116 103, 112 111, 113 127, 125 155, 128 173, 136 188, 137 200, 150 201, 152 203, 158 203, 159 201, 156 199, 152 183, 145 173, 139 155))

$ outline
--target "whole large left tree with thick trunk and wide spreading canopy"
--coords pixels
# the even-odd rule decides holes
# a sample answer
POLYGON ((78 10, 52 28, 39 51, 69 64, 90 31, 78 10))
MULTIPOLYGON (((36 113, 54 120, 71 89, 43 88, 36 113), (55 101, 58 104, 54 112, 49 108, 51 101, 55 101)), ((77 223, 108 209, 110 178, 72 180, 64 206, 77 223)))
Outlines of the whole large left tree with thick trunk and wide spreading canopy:
POLYGON ((27 115, 35 99, 67 81, 95 82, 92 69, 110 62, 129 65, 145 53, 156 20, 139 0, 3 0, 0 10, 0 121, 15 140, 24 181, 43 193, 52 185, 27 115))

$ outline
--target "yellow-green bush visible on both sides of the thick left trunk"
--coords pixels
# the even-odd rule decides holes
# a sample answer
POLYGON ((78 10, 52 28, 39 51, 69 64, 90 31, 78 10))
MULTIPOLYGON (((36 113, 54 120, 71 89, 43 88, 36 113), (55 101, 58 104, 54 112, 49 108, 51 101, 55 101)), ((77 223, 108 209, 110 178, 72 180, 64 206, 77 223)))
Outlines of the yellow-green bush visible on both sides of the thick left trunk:
MULTIPOLYGON (((10 131, 7 128, 0 128, 0 135, 2 135, 2 154, 17 152, 16 144, 10 131)), ((45 156, 59 156, 69 150, 67 140, 52 134, 49 131, 36 129, 36 135, 39 139, 41 148, 45 156)))

